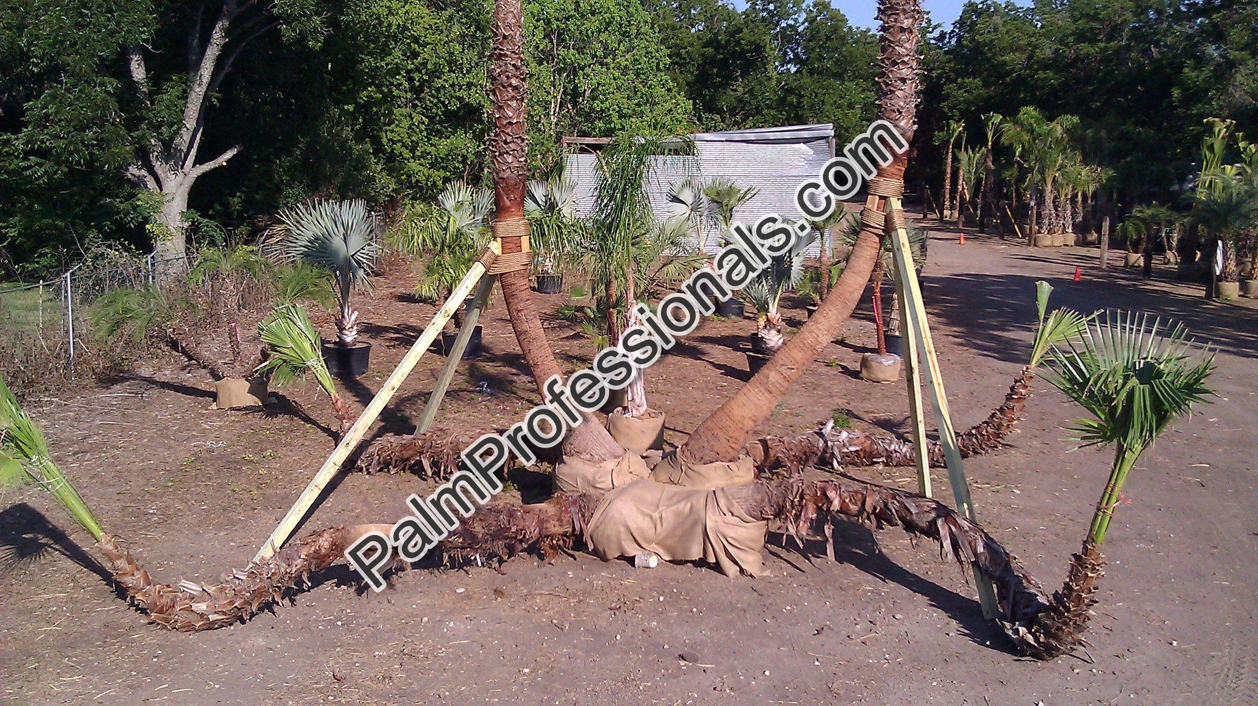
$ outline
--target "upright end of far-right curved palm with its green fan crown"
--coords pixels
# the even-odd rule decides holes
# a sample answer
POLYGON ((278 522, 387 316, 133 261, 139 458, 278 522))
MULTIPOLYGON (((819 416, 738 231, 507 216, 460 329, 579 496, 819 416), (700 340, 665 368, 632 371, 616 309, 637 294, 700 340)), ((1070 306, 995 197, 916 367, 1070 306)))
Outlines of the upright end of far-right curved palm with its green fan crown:
MULTIPOLYGON (((1092 417, 1073 427, 1084 446, 1113 445, 1113 465, 1083 548, 1071 560, 1066 584, 1047 611, 1024 628, 1025 649, 1040 658, 1064 654, 1082 642, 1101 578, 1101 543, 1140 456, 1176 418, 1203 402, 1213 356, 1194 356, 1188 330, 1145 313, 1107 313, 1081 337, 1052 348, 1045 378, 1092 417)), ((1015 637, 1018 637, 1015 634, 1015 637)))

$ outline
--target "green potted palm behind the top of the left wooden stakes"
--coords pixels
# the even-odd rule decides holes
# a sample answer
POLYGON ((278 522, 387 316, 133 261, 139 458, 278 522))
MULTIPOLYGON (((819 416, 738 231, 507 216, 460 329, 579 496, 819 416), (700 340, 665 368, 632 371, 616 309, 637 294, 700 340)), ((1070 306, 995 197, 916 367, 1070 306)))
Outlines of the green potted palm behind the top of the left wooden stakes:
MULTIPOLYGON (((398 230, 398 246, 423 263, 415 294, 428 300, 443 300, 454 291, 477 255, 489 241, 489 214, 493 193, 488 188, 453 182, 437 197, 435 205, 421 205, 406 215, 398 230)), ((462 328, 467 307, 454 312, 454 328, 462 328)), ((455 330, 442 333, 442 350, 454 347, 455 330)), ((481 354, 482 327, 477 325, 463 350, 464 358, 481 354)))

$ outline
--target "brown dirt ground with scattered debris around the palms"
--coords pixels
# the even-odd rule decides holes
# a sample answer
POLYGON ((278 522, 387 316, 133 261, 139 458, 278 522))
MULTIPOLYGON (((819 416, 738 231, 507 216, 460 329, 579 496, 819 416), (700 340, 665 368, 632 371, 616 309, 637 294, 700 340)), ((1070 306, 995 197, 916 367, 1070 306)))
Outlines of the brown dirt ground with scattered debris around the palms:
MULTIPOLYGON (((1099 270, 1092 249, 1030 250, 994 236, 932 232, 923 274, 959 427, 982 418, 1025 362, 1033 283, 1054 303, 1127 307, 1185 320, 1218 347, 1218 399, 1176 425, 1128 482, 1106 543, 1111 559, 1088 654, 1021 660, 982 619, 975 592, 933 545, 894 529, 842 533, 838 562, 766 546, 767 575, 711 568, 634 569, 585 554, 550 564, 416 569, 380 594, 345 567, 249 623, 199 634, 147 624, 101 575, 91 541, 34 492, 0 504, 0 698, 34 703, 1254 703, 1258 690, 1258 312, 1201 299, 1200 288, 1099 270), (1083 281, 1071 281, 1076 265, 1083 281), (686 653, 687 661, 679 658, 686 653), (1248 693, 1248 696, 1245 696, 1248 693)), ((1121 254, 1116 254, 1121 255, 1121 254)), ((1117 258, 1116 258, 1117 261, 1117 258)), ((1160 273, 1161 274, 1161 273, 1160 273)), ((362 301, 372 372, 365 405, 433 307, 394 276, 362 301), (389 323, 392 322, 392 323, 389 323)), ((562 295, 545 298, 552 309, 562 295)), ((487 314, 487 352, 452 386, 440 425, 506 426, 536 403, 504 320, 487 314)), ((793 303, 788 322, 803 308, 793 303)), ((325 333, 330 319, 322 319, 325 333)), ((593 345, 547 323, 571 369, 593 345)), ((712 320, 648 372, 668 441, 684 438, 746 379, 736 347, 751 318, 712 320)), ((855 379, 873 343, 869 309, 829 345, 769 421, 803 431, 850 410, 867 428, 906 430, 902 384, 855 379)), ((380 431, 408 431, 442 358, 420 364, 380 431)), ((1040 386, 1042 388, 1044 386, 1040 386)), ((31 403, 57 460, 102 519, 165 580, 216 579, 244 565, 333 447, 314 386, 279 391, 265 412, 216 411, 209 378, 174 361, 107 387, 31 403), (294 403, 296 402, 296 403, 294 403), (311 418, 303 417, 303 412, 311 418)), ((985 525, 1047 585, 1058 585, 1086 530, 1110 456, 1071 451, 1079 415, 1055 391, 1029 402, 1023 432, 966 464, 985 525)), ((859 475, 913 487, 906 469, 859 475)), ((944 475, 942 472, 940 475, 944 475)), ((517 474, 530 492, 537 474, 517 474)), ((302 531, 394 521, 413 476, 345 474, 302 531)), ((945 479, 936 492, 951 497, 945 479)))

